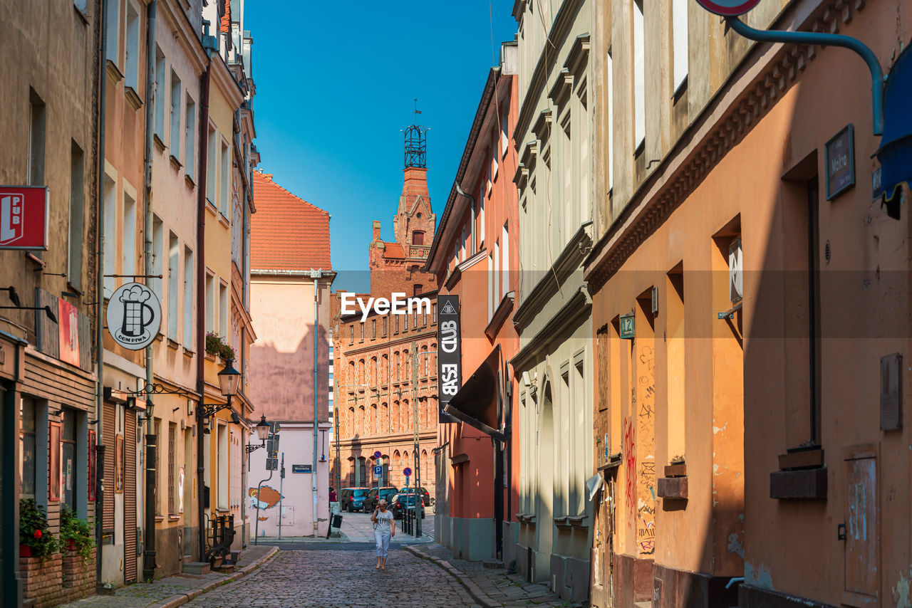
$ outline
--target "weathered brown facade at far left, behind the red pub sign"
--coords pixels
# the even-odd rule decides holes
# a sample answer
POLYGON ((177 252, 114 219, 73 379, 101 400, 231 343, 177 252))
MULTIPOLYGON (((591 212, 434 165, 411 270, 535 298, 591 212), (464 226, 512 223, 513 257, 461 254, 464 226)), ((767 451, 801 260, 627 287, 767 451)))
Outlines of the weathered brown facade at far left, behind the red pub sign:
MULTIPOLYGON (((98 445, 98 328, 96 167, 98 159, 98 11, 71 3, 36 10, 30 3, 0 3, 0 83, 5 111, 0 130, 0 183, 46 188, 46 248, 7 249, 16 203, 0 193, 0 596, 21 605, 20 500, 35 500, 59 532, 61 510, 96 516, 97 485, 90 446, 98 445), (61 45, 65 53, 47 53, 61 45), (8 287, 8 288, 7 288, 8 287), (44 307, 47 306, 47 311, 44 307), (22 310, 16 310, 17 308, 22 310), (40 307, 40 310, 26 310, 40 307)), ((58 554, 49 560, 60 567, 58 554)), ((50 566, 49 566, 50 567, 50 566)), ((89 588, 94 588, 94 564, 89 588)), ((36 596, 41 603, 81 597, 59 578, 36 596)), ((82 593, 85 594, 85 593, 82 593)))

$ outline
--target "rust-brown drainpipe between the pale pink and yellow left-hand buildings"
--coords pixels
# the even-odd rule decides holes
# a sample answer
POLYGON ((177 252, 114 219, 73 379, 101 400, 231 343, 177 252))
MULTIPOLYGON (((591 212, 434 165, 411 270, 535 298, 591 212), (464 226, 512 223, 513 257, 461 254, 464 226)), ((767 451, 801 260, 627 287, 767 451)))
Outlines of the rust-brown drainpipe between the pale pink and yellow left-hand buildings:
MULTIPOLYGON (((200 88, 200 153, 197 168, 197 204, 196 204, 196 392, 200 394, 200 404, 196 408, 196 420, 199 429, 196 433, 196 487, 197 491, 197 517, 199 518, 200 531, 200 562, 206 561, 206 508, 202 503, 203 489, 206 487, 205 458, 203 451, 205 445, 202 441, 202 425, 209 421, 202 416, 202 403, 205 399, 205 356, 206 346, 206 160, 209 156, 209 81, 212 74, 212 48, 206 46, 206 71, 202 73, 200 88)), ((214 414, 213 414, 214 416, 214 414)), ((210 501, 212 497, 210 497, 210 501)))

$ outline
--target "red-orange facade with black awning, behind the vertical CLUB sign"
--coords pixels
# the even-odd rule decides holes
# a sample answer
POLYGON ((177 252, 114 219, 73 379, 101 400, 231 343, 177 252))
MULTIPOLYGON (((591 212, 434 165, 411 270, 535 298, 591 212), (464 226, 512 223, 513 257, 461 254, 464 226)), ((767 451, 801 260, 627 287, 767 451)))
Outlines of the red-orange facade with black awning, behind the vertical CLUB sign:
MULTIPOLYGON (((513 326, 519 285, 519 203, 513 176, 517 154, 513 126, 518 111, 518 53, 501 49, 501 64, 488 73, 469 139, 426 268, 439 294, 460 297, 462 387, 450 406, 471 418, 451 418, 439 428, 435 538, 467 560, 513 562, 519 524, 519 436, 513 424, 518 383, 507 373, 519 349, 513 326), (477 370, 477 371, 476 371, 477 370), (482 392, 472 376, 497 381, 482 392), (471 397, 467 397, 471 395, 471 397), (484 407, 494 403, 494 417, 484 407), (480 428, 474 421, 482 422, 480 428), (491 429, 491 430, 489 430, 491 429), (489 433, 503 437, 492 441, 489 433)), ((444 318, 444 317, 441 317, 444 318)), ((442 397, 441 393, 441 397, 442 397)), ((442 400, 442 398, 441 398, 442 400)), ((448 411, 450 411, 448 409, 448 411)))

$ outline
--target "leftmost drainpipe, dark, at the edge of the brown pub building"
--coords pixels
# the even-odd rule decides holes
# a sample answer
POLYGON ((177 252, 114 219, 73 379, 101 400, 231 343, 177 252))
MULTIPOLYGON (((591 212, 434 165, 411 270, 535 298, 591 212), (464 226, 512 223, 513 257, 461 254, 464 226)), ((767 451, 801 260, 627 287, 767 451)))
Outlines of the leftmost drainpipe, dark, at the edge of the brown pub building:
POLYGON ((108 23, 108 3, 104 0, 98 0, 98 12, 101 15, 101 23, 98 26, 98 37, 101 38, 101 45, 98 48, 98 193, 95 217, 95 230, 98 234, 98 251, 95 254, 96 281, 95 290, 97 304, 95 306, 95 373, 98 375, 98 392, 95 401, 95 418, 98 420, 96 427, 96 459, 95 459, 95 546, 98 547, 98 555, 95 558, 96 584, 100 585, 101 579, 101 522, 104 514, 104 461, 105 461, 105 442, 102 422, 104 413, 104 368, 105 368, 105 214, 104 214, 104 192, 105 192, 105 111, 107 104, 105 96, 107 91, 108 76, 106 73, 106 62, 108 56, 108 36, 105 36, 106 26, 108 23), (100 466, 99 466, 100 460, 100 466))

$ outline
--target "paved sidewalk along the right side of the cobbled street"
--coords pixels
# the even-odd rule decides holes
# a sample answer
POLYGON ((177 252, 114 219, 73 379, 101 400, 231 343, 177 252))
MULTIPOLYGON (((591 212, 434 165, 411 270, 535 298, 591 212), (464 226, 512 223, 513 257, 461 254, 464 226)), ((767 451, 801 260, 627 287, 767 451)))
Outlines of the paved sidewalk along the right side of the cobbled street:
POLYGON ((551 593, 546 584, 526 582, 518 574, 507 574, 504 568, 485 568, 482 562, 466 562, 454 558, 450 549, 436 543, 421 545, 417 549, 430 557, 449 563, 457 571, 462 572, 469 581, 478 586, 482 593, 491 598, 494 605, 509 608, 586 605, 565 602, 551 593))

